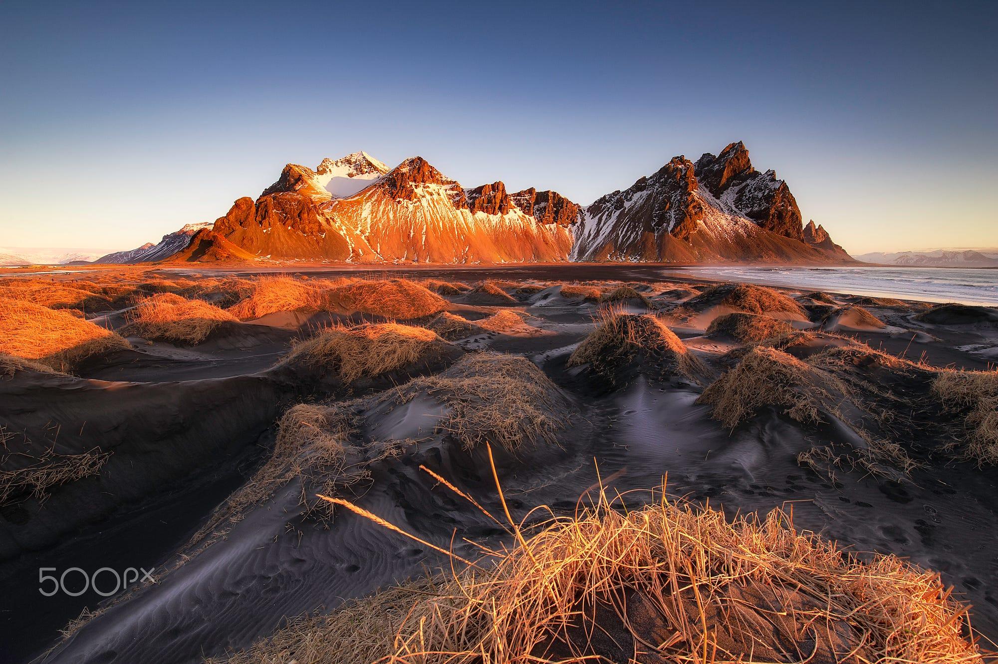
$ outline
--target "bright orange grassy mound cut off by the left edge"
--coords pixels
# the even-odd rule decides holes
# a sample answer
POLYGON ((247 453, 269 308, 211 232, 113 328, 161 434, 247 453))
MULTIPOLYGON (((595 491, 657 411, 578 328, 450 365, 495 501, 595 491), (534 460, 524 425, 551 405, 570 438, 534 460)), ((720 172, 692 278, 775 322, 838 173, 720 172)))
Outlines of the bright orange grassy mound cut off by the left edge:
POLYGON ((111 330, 67 311, 0 297, 0 353, 69 372, 88 357, 128 347, 111 330))

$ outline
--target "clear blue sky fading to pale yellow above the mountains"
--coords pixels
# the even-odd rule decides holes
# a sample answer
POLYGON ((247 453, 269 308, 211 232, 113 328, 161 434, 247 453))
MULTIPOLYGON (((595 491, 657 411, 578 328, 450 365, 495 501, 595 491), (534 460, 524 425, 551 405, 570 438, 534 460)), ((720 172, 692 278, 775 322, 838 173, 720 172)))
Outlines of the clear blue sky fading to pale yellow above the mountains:
POLYGON ((996 29, 994 2, 7 0, 0 246, 132 248, 358 150, 588 203, 737 140, 850 252, 998 246, 996 29))

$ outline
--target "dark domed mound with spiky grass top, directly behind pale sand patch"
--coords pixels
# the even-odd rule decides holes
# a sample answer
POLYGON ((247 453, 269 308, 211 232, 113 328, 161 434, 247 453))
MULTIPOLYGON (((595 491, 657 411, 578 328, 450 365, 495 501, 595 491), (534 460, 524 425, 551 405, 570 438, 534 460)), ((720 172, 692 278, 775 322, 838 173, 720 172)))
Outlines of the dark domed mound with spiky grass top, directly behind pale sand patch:
POLYGON ((696 378, 703 366, 686 344, 652 314, 601 313, 599 326, 568 359, 568 366, 588 364, 597 375, 617 384, 635 369, 662 376, 696 378))

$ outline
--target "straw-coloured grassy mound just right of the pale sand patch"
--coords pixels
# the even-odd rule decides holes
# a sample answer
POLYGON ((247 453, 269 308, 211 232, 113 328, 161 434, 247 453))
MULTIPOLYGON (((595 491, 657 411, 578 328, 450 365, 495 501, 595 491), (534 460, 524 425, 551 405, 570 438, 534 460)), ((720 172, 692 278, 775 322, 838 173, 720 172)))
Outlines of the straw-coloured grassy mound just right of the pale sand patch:
POLYGON ((711 384, 697 403, 710 404, 714 419, 730 429, 759 408, 780 407, 797 422, 820 422, 822 407, 834 410, 844 386, 792 355, 754 346, 734 368, 711 384))

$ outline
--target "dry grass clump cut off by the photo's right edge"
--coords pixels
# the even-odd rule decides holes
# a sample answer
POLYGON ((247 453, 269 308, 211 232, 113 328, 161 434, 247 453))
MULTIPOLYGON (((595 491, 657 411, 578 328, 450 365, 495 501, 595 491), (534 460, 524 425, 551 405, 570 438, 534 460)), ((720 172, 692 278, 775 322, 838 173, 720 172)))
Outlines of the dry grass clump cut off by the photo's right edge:
POLYGON ((939 372, 932 393, 960 414, 964 435, 954 448, 980 466, 998 466, 998 371, 939 372))

